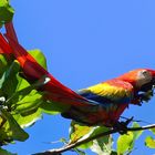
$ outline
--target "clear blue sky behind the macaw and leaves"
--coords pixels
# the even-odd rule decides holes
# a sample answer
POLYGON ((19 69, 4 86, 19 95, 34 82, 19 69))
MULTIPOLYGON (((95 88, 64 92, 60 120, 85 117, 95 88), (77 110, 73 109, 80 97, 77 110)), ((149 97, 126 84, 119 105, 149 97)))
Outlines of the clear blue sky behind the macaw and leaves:
MULTIPOLYGON (((20 43, 42 50, 49 71, 72 90, 133 69, 155 69, 154 0, 12 0, 12 6, 20 43)), ((154 102, 130 106, 123 115, 154 123, 154 102)), ((27 130, 30 140, 8 149, 27 155, 59 147, 48 142, 68 137, 69 124, 61 116, 44 115, 27 130)), ((146 134, 133 155, 155 153, 144 148, 146 134)))

